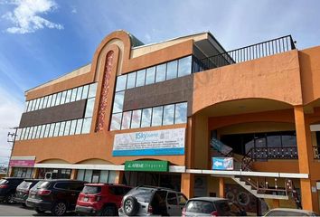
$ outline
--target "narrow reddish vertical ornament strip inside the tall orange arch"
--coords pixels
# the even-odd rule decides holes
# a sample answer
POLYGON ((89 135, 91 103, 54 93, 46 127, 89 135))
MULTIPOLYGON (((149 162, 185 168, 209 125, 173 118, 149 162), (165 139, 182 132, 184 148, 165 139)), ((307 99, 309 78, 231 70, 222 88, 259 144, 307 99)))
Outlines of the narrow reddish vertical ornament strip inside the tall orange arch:
POLYGON ((96 125, 96 132, 102 131, 105 126, 105 117, 107 112, 107 102, 108 102, 108 90, 109 90, 109 80, 111 77, 112 70, 112 60, 114 52, 110 51, 107 53, 106 64, 103 71, 102 77, 102 88, 100 94, 99 110, 98 110, 98 121, 96 125))

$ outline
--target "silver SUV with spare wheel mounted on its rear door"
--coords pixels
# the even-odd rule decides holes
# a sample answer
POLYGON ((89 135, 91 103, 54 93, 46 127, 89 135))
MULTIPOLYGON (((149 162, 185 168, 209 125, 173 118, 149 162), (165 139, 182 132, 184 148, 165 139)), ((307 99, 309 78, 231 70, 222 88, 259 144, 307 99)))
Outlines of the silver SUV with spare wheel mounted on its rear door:
POLYGON ((128 192, 118 210, 120 216, 174 215, 181 216, 187 198, 172 189, 139 186, 128 192))

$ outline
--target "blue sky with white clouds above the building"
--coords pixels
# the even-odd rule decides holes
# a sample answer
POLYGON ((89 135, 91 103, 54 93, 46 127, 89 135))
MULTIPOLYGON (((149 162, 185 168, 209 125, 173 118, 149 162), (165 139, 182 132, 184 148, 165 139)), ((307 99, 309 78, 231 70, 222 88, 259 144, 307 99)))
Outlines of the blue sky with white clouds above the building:
POLYGON ((0 0, 0 166, 24 91, 80 68, 109 33, 144 43, 210 31, 230 51, 291 34, 320 45, 318 0, 0 0))

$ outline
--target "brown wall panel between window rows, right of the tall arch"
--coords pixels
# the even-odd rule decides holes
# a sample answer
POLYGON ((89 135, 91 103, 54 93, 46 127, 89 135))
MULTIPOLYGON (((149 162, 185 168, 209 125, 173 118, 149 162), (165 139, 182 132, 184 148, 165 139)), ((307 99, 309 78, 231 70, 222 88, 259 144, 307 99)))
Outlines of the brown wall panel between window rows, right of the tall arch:
POLYGON ((126 90, 123 109, 143 109, 175 102, 188 102, 188 116, 193 105, 193 75, 126 90))

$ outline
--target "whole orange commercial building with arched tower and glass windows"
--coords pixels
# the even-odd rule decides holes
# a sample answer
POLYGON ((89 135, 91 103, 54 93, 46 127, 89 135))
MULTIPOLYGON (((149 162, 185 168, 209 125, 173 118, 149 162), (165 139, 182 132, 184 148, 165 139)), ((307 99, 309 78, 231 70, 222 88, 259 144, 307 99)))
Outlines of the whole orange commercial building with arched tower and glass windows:
POLYGON ((249 212, 319 212, 320 47, 226 52, 211 33, 110 33, 89 65, 25 92, 10 174, 161 185, 249 212))

